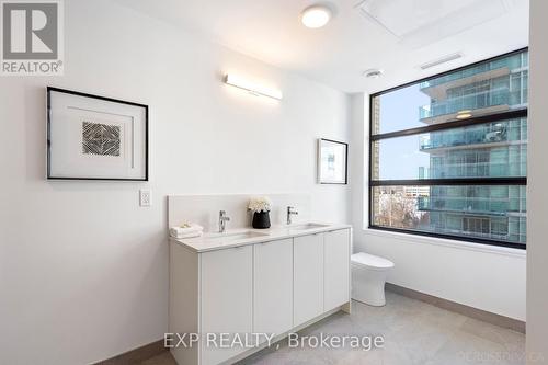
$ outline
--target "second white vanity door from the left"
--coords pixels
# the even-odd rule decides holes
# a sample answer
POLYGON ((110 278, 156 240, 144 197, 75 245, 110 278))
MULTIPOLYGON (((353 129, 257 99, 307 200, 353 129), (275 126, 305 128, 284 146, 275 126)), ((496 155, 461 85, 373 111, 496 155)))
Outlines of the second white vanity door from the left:
POLYGON ((254 244, 253 332, 293 328, 293 240, 254 244))

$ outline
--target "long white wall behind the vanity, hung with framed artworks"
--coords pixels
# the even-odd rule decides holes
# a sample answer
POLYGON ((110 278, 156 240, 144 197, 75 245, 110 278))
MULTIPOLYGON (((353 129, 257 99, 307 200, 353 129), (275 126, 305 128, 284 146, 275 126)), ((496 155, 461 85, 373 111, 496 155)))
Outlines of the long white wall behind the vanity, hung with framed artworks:
POLYGON ((313 218, 349 220, 349 186, 315 184, 316 138, 349 137, 345 94, 110 1, 65 5, 65 76, 0 79, 1 364, 87 364, 162 338, 168 194, 306 192, 313 218), (152 180, 45 181, 48 84, 150 105, 152 180))

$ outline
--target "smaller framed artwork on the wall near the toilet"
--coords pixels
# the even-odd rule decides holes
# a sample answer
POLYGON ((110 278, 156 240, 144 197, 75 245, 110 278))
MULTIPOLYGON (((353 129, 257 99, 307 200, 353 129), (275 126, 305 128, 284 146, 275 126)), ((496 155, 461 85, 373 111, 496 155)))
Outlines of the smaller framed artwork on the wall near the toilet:
POLYGON ((349 145, 345 142, 318 139, 318 183, 347 183, 349 145))

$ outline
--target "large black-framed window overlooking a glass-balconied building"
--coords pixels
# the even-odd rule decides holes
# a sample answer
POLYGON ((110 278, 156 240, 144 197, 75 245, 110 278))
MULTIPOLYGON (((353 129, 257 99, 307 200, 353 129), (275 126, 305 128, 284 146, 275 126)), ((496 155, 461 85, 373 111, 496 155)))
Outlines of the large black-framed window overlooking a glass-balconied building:
POLYGON ((370 96, 369 228, 525 249, 528 54, 370 96))

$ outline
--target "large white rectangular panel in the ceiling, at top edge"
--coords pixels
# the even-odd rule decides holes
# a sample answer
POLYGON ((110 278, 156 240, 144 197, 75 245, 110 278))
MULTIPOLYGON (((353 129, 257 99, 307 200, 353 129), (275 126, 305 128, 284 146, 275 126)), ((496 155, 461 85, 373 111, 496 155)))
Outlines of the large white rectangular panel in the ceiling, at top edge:
POLYGON ((356 9, 400 43, 419 48, 500 18, 511 0, 363 0, 356 9))

